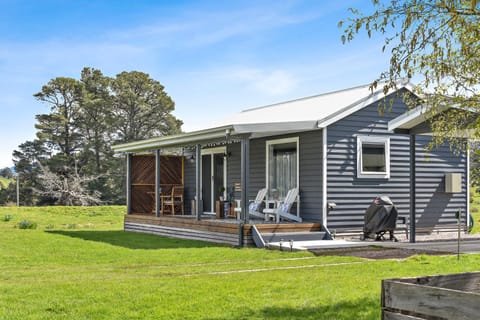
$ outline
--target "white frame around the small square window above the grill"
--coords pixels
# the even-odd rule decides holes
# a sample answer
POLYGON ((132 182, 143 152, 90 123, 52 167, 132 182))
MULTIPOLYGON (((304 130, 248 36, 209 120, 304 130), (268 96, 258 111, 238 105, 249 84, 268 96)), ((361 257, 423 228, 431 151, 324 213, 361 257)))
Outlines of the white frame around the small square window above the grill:
POLYGON ((385 136, 357 136, 357 178, 361 179, 390 179, 390 137, 385 136), (385 172, 363 171, 362 144, 375 143, 385 146, 385 172))

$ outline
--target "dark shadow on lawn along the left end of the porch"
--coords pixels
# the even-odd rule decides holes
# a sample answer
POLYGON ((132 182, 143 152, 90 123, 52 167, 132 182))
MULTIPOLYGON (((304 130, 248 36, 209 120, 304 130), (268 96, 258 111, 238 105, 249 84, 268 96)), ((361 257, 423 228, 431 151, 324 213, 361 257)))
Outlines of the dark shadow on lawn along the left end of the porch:
POLYGON ((167 238, 157 235, 118 231, 45 231, 77 239, 108 243, 113 246, 129 249, 177 249, 177 248, 208 248, 222 247, 221 244, 195 240, 167 238))

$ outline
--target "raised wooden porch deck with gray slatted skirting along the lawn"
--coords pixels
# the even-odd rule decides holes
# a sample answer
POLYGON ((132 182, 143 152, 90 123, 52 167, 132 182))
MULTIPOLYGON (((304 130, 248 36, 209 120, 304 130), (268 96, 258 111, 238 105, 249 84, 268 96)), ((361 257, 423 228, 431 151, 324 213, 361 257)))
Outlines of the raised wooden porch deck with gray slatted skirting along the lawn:
MULTIPOLYGON (((234 219, 205 218, 193 216, 161 216, 129 214, 124 219, 124 230, 157 234, 172 238, 226 243, 234 246, 254 246, 253 224, 241 224, 234 219), (242 235, 240 241, 239 235, 242 235)), ((262 233, 320 231, 320 223, 262 223, 255 224, 262 233)))

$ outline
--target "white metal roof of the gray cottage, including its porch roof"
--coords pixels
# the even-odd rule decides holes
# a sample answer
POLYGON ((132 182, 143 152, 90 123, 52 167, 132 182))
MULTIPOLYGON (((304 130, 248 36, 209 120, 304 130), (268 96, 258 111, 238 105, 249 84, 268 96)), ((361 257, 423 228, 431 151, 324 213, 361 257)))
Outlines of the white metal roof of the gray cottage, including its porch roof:
MULTIPOLYGON (((397 90, 413 91, 409 82, 399 82, 397 90)), ((113 146, 114 150, 137 152, 171 147, 211 138, 250 134, 252 137, 325 128, 328 125, 384 98, 383 87, 373 92, 370 85, 244 110, 211 126, 175 136, 159 137, 113 146)))

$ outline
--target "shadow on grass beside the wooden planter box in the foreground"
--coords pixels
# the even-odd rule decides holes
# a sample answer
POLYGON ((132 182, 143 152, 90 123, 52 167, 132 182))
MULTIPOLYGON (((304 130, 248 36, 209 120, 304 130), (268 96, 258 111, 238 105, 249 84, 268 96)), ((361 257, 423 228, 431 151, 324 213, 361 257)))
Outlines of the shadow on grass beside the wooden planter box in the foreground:
MULTIPOLYGON (((301 305, 301 303, 299 303, 301 305)), ((362 298, 341 301, 318 307, 266 307, 260 310, 244 310, 237 319, 380 319, 379 298, 362 298)), ((215 318, 223 319, 223 318, 215 318)), ((226 319, 226 318, 225 318, 226 319)))

